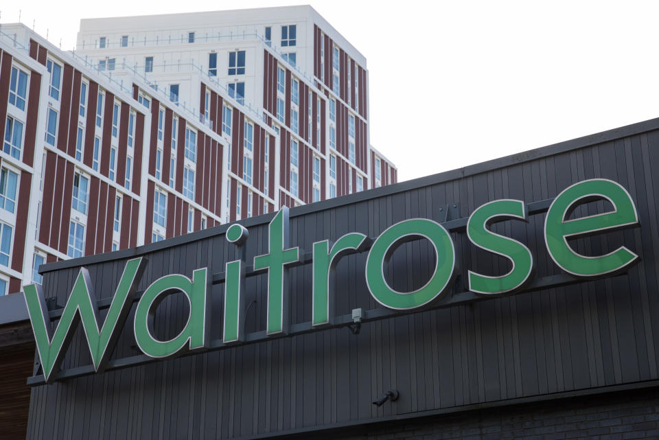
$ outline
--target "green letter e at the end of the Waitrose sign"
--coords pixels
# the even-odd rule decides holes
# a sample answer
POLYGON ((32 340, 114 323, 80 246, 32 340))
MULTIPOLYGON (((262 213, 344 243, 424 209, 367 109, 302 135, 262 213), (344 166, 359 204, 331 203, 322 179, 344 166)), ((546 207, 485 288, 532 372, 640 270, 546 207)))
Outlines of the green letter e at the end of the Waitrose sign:
POLYGON ((544 241, 549 255, 560 268, 577 277, 597 277, 629 266, 638 255, 621 246, 606 255, 587 257, 576 253, 568 244, 568 238, 636 224, 638 214, 627 190, 619 183, 594 178, 575 183, 556 196, 545 218, 544 241), (613 211, 566 220, 577 205, 602 198, 611 202, 613 211))

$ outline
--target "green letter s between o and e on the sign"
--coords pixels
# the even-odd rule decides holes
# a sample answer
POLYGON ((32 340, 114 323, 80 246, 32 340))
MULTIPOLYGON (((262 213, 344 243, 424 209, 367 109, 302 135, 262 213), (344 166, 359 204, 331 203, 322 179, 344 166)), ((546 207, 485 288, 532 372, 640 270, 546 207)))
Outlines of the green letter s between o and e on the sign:
POLYGON ((494 200, 478 207, 467 222, 467 237, 479 248, 509 259, 513 268, 506 275, 488 277, 469 271, 469 290, 476 293, 496 294, 520 288, 531 276, 533 256, 527 246, 487 229, 491 222, 520 218, 526 220, 526 205, 521 200, 494 200))

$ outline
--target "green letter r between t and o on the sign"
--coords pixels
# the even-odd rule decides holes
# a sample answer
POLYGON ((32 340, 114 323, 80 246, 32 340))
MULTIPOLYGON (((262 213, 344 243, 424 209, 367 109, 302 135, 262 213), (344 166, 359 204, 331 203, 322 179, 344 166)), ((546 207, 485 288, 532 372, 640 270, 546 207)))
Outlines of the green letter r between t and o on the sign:
POLYGON ((313 292, 312 292, 312 325, 329 324, 334 316, 334 277, 329 275, 334 271, 338 260, 351 252, 362 252, 369 243, 362 233, 349 233, 336 240, 329 250, 329 240, 314 243, 313 255, 313 292))

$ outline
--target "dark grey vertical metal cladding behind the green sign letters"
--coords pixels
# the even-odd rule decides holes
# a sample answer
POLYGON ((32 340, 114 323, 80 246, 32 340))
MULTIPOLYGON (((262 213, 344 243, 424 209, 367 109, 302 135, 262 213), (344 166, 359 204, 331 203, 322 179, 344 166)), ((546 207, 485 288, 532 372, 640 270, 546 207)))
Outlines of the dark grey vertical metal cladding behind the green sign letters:
MULTIPOLYGON (((459 204, 460 216, 467 217, 489 200, 536 202, 577 181, 610 178, 632 195, 641 227, 580 239, 575 246, 597 255, 624 244, 641 257, 626 274, 364 323, 358 335, 345 328, 319 330, 36 386, 28 438, 250 438, 656 383, 651 381, 658 379, 659 362, 659 175, 653 170, 659 169, 659 132, 643 132, 643 124, 620 129, 617 135, 594 135, 590 142, 577 140, 570 148, 533 150, 520 155, 522 160, 474 165, 471 173, 449 172, 292 209, 290 217, 291 244, 310 251, 314 241, 352 231, 375 237, 406 218, 443 220, 440 208, 448 204, 459 204), (621 133, 632 134, 618 137, 621 133), (380 408, 371 404, 391 388, 400 391, 399 400, 380 408)), ((602 202, 593 202, 577 215, 604 209, 602 202)), ((266 252, 270 218, 243 222, 250 231, 248 262, 266 252)), ((535 277, 561 274, 546 253, 543 223, 544 213, 536 213, 528 222, 494 225, 495 231, 531 248, 535 277)), ((216 233, 224 229, 192 235, 198 240, 180 238, 116 253, 120 259, 90 257, 82 264, 98 297, 113 294, 126 259, 140 252, 149 260, 140 290, 169 273, 191 276, 205 266, 219 273, 227 261, 238 258, 235 246, 216 233)), ((451 235, 459 264, 456 292, 463 290, 469 269, 488 275, 507 270, 505 259, 476 250, 465 233, 451 235)), ((337 314, 377 307, 366 288, 365 259, 366 253, 349 255, 338 264, 337 314)), ((389 263, 392 285, 400 290, 418 287, 432 273, 433 262, 425 242, 404 244, 389 263)), ((46 268, 45 294, 57 297, 60 305, 78 272, 72 264, 46 268)), ((292 268, 290 280, 290 319, 310 321, 311 266, 292 268)), ((222 294, 222 284, 213 286, 212 338, 221 336, 222 294)), ((265 329, 265 295, 266 275, 249 277, 246 332, 265 329)), ((187 316, 182 309, 180 297, 163 303, 159 334, 171 335, 183 326, 187 316)), ((139 354, 132 313, 113 359, 139 354)), ((90 362, 79 329, 62 368, 90 362)))

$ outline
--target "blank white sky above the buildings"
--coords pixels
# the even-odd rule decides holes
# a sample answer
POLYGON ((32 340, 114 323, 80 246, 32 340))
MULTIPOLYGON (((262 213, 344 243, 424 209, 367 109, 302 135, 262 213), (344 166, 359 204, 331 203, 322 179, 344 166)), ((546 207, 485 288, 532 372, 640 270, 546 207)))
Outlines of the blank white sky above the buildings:
MULTIPOLYGON (((0 5, 71 49, 81 18, 299 4, 30 1, 0 5), (65 5, 62 7, 62 5, 65 5)), ((371 143, 400 181, 659 116, 659 2, 310 4, 367 57, 371 143)))

